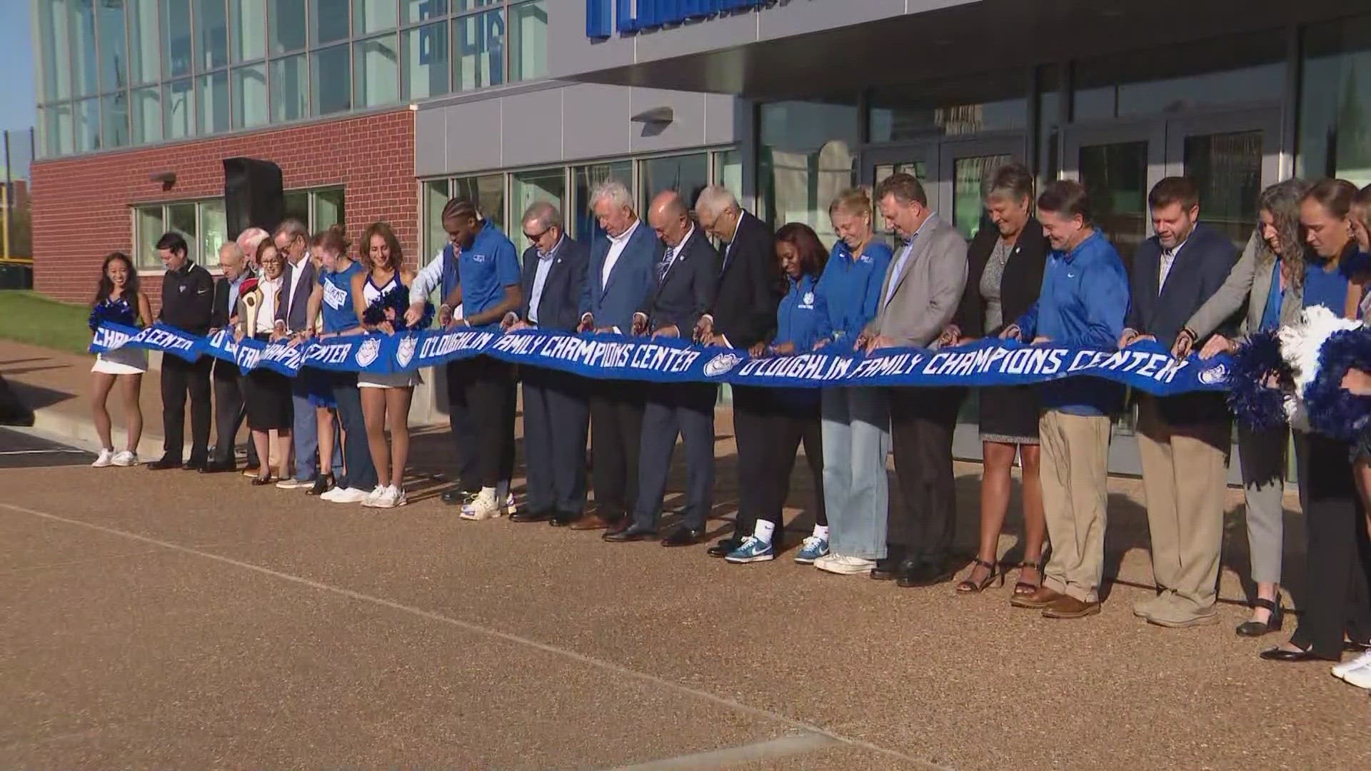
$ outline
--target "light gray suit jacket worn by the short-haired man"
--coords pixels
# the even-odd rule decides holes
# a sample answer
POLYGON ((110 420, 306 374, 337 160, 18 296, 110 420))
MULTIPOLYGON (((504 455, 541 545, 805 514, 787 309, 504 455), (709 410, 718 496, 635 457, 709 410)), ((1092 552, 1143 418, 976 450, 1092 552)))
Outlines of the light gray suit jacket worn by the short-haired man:
POLYGON ((897 346, 925 348, 938 340, 957 313, 967 285, 967 239, 951 224, 930 214, 887 303, 886 294, 902 251, 903 247, 895 250, 886 269, 880 306, 865 332, 868 336, 884 335, 897 346))

